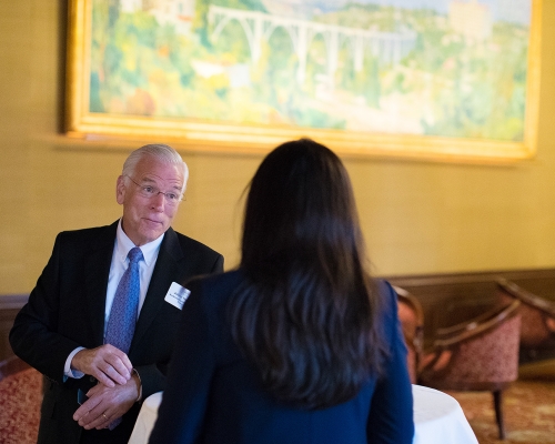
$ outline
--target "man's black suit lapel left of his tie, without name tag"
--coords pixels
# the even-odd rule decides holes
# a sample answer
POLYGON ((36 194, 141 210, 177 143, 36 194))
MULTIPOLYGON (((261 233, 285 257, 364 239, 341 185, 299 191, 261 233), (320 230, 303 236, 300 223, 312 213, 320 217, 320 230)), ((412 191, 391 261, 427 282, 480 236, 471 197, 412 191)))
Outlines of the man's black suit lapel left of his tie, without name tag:
POLYGON ((118 222, 114 222, 100 234, 92 245, 88 246, 91 249, 91 253, 85 261, 84 289, 87 291, 89 319, 94 334, 93 340, 94 344, 98 345, 101 345, 104 340, 105 292, 117 228, 118 222))

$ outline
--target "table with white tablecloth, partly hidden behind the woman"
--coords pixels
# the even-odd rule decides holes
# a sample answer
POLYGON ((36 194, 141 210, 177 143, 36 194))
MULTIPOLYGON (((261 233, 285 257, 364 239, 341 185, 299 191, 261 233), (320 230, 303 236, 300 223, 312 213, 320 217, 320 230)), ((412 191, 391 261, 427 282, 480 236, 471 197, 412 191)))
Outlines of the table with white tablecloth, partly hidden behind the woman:
MULTIPOLYGON (((413 385, 413 444, 478 444, 458 402, 437 390, 413 385)), ((129 444, 145 444, 157 421, 162 392, 147 397, 129 444)))

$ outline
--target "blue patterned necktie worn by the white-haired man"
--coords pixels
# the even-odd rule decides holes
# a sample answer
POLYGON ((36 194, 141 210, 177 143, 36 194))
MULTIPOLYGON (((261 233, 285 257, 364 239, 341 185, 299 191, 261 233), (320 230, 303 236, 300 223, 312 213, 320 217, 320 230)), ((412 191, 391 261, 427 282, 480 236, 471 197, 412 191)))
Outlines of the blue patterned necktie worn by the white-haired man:
MULTIPOLYGON (((112 344, 124 353, 129 353, 131 340, 135 331, 141 289, 139 261, 143 259, 141 249, 139 246, 131 249, 128 258, 129 266, 121 276, 115 290, 104 339, 105 344, 112 344)), ((121 421, 121 417, 115 418, 110 423, 108 428, 113 430, 121 421)))

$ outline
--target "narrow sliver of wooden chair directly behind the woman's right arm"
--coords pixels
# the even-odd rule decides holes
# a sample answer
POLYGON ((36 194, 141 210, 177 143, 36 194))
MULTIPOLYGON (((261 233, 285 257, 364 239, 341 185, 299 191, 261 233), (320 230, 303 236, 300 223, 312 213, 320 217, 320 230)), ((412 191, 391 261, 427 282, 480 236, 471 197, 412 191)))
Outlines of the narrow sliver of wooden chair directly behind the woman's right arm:
POLYGON ((406 356, 408 374, 411 382, 416 384, 424 344, 424 312, 416 296, 398 286, 393 289, 397 293, 397 313, 408 351, 406 356))

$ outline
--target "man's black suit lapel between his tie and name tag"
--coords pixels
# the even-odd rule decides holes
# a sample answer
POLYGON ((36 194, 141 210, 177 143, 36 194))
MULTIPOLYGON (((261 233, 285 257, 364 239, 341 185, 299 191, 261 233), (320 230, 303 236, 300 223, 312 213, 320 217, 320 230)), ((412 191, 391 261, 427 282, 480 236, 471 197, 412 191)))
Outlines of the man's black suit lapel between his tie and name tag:
POLYGON ((144 303, 137 321, 133 341, 131 342, 130 353, 137 344, 140 343, 150 324, 157 316, 162 304, 164 303, 165 294, 170 289, 171 283, 180 273, 178 272, 179 261, 183 258, 183 251, 179 244, 175 232, 170 228, 165 232, 160 253, 158 254, 157 264, 152 272, 149 290, 144 297, 144 303))

